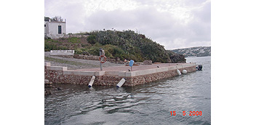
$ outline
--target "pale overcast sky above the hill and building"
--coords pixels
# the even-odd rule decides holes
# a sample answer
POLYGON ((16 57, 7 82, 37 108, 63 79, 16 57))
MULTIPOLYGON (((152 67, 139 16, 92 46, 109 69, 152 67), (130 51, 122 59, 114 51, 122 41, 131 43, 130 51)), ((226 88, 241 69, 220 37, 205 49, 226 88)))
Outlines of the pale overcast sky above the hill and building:
POLYGON ((132 30, 165 49, 211 46, 210 0, 44 0, 44 16, 67 33, 132 30))

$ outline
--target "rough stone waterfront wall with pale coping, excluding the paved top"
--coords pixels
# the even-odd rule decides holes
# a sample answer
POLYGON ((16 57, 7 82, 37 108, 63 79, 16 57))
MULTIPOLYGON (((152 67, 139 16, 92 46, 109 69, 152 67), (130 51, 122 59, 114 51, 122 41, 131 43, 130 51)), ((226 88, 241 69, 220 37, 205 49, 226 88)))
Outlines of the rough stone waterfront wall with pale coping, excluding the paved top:
POLYGON ((66 67, 50 66, 49 62, 44 66, 44 78, 57 84, 84 84, 88 85, 92 76, 95 76, 94 85, 116 86, 121 78, 125 78, 123 86, 135 86, 156 81, 162 78, 177 76, 177 69, 187 70, 188 73, 196 70, 196 65, 177 65, 176 67, 156 68, 149 70, 126 71, 83 71, 67 70, 66 67))

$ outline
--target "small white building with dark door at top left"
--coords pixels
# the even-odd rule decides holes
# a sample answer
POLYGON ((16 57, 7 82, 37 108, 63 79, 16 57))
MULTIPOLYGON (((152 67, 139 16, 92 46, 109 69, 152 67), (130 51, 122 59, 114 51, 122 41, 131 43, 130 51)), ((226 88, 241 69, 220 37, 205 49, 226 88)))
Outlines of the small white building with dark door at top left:
POLYGON ((66 34, 65 22, 44 21, 44 36, 51 39, 63 37, 66 34))

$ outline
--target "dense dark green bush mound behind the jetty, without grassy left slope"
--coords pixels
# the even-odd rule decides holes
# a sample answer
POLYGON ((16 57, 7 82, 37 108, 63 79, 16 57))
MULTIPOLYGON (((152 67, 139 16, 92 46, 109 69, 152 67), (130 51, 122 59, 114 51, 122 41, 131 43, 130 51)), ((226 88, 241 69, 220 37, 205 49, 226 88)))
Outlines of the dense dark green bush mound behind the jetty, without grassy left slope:
POLYGON ((90 44, 96 43, 95 41, 102 44, 105 53, 109 52, 109 57, 119 57, 121 60, 132 59, 135 62, 143 62, 143 60, 168 62, 170 60, 164 46, 135 31, 92 31, 89 35, 87 41, 90 44))

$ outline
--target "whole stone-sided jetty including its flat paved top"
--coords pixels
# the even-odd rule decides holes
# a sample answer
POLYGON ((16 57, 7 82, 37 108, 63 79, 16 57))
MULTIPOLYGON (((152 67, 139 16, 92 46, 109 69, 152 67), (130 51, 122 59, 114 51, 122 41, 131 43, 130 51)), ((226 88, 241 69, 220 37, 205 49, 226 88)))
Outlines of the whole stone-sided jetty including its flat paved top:
POLYGON ((161 63, 152 65, 115 66, 103 68, 87 68, 68 70, 67 67, 44 64, 44 78, 57 84, 85 84, 88 85, 92 76, 95 76, 95 85, 116 86, 121 78, 126 81, 123 86, 135 86, 156 81, 162 78, 177 76, 178 70, 187 70, 188 73, 196 70, 196 63, 161 63))

